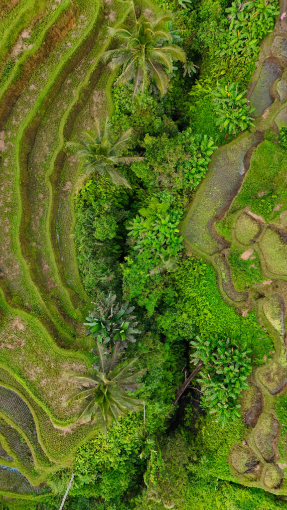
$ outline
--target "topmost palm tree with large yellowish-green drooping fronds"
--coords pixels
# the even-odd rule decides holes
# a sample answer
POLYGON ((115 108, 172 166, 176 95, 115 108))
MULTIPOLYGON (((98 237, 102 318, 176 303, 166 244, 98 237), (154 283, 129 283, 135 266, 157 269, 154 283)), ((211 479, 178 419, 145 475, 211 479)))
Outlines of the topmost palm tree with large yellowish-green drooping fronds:
POLYGON ((140 88, 142 93, 152 81, 162 96, 166 94, 173 60, 186 61, 183 49, 172 43, 172 34, 166 27, 171 20, 170 15, 161 16, 155 21, 145 17, 137 20, 135 16, 132 28, 123 26, 109 29, 110 34, 121 43, 118 48, 103 54, 104 61, 110 61, 111 69, 123 67, 115 87, 133 80, 134 97, 140 88))

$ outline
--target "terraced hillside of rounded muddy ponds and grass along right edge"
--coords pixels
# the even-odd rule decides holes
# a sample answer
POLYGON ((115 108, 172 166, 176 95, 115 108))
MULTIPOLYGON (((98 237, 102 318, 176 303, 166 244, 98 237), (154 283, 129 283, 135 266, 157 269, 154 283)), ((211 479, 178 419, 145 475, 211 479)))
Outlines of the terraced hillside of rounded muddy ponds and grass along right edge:
POLYGON ((276 416, 287 387, 286 150, 276 133, 287 125, 286 79, 287 24, 278 19, 249 91, 255 127, 214 152, 182 226, 189 250, 216 269, 224 299, 243 317, 256 311, 272 335, 274 351, 254 367, 242 399, 244 441, 230 449, 223 478, 275 494, 287 494, 286 408, 276 416))

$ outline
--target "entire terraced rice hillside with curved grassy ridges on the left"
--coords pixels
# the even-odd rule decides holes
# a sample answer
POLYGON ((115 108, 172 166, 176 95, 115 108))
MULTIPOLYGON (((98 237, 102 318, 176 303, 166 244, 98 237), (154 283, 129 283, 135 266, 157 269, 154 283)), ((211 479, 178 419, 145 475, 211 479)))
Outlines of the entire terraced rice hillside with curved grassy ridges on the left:
POLYGON ((77 409, 65 405, 64 372, 91 359, 71 236, 77 165, 63 149, 109 80, 107 26, 130 10, 117 0, 34 4, 0 17, 9 41, 0 43, 0 494, 27 497, 49 490, 39 484, 71 467, 95 433, 75 427, 77 409))

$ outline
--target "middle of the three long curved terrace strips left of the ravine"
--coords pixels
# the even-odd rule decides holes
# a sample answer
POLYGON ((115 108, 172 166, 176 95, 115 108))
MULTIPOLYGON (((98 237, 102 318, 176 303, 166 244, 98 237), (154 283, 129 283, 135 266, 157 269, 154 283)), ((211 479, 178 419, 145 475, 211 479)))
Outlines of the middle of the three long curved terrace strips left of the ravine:
MULTIPOLYGON (((86 66, 83 65, 83 62, 79 65, 79 60, 83 58, 84 52, 82 51, 80 54, 78 48, 82 49, 82 40, 85 39, 87 34, 95 34, 94 26, 99 16, 99 10, 99 2, 90 1, 85 3, 81 16, 83 16, 82 19, 88 18, 89 23, 81 27, 79 21, 78 32, 81 37, 75 37, 73 40, 74 52, 78 52, 78 62, 75 63, 75 70, 69 74, 69 79, 66 79, 61 86, 53 104, 47 110, 43 122, 38 128, 36 139, 33 141, 34 146, 28 162, 28 196, 31 197, 30 218, 26 238, 21 241, 22 245, 28 243, 26 249, 28 262, 31 258, 31 252, 34 251, 33 259, 37 261, 37 267, 34 268, 33 273, 34 281, 37 278, 37 273, 40 273, 44 280, 42 288, 48 292, 51 289, 51 299, 47 301, 47 305, 51 308, 51 314, 55 315, 57 313, 60 304, 64 313, 75 318, 77 318, 77 315, 71 302, 70 289, 63 283, 57 266, 57 242, 56 245, 55 243, 54 246, 52 245, 52 238, 53 235, 55 237, 56 232, 54 230, 55 221, 53 221, 55 218, 51 221, 51 213, 53 209, 57 208, 57 203, 53 203, 53 200, 57 201, 59 189, 57 175, 55 175, 55 161, 64 146, 63 125, 69 116, 71 105, 79 97, 85 80, 86 66), (76 83, 73 76, 76 77, 76 83), (33 248, 33 246, 35 247, 33 248), (55 306, 51 307, 51 301, 55 303, 55 306)), ((86 57, 87 59, 88 57, 86 57)), ((60 261, 58 260, 58 262, 60 261)), ((78 315, 78 319, 82 320, 82 316, 78 315)))

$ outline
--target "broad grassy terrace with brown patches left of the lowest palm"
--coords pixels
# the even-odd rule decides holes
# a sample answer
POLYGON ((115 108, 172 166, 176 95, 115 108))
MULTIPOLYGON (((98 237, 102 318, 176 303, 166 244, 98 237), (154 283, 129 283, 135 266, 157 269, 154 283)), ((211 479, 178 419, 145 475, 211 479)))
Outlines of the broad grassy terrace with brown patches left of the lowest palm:
POLYGON ((37 319, 8 307, 3 296, 0 297, 0 306, 1 364, 52 410, 59 424, 73 421, 75 412, 64 403, 71 387, 66 382, 63 384, 62 377, 65 371, 90 365, 91 356, 57 347, 37 319))

